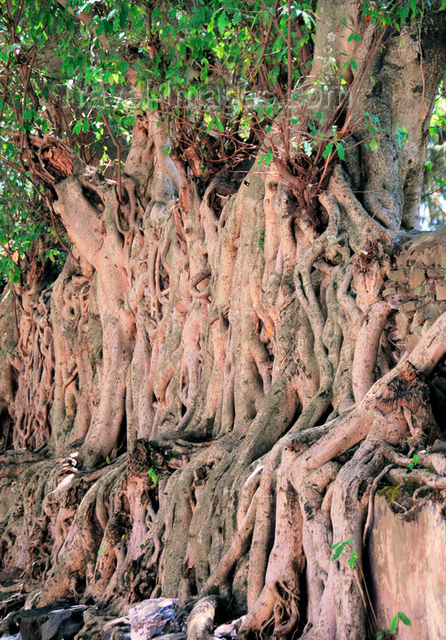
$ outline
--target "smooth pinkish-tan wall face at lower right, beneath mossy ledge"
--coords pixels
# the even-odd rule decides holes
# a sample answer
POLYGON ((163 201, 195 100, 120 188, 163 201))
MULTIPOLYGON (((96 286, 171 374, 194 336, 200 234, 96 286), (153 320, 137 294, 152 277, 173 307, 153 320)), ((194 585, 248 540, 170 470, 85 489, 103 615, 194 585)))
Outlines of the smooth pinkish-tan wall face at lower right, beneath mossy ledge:
POLYGON ((387 629, 395 613, 404 640, 441 640, 446 620, 446 521, 441 505, 422 507, 406 522, 393 514, 384 497, 375 498, 368 549, 372 600, 377 621, 387 629))

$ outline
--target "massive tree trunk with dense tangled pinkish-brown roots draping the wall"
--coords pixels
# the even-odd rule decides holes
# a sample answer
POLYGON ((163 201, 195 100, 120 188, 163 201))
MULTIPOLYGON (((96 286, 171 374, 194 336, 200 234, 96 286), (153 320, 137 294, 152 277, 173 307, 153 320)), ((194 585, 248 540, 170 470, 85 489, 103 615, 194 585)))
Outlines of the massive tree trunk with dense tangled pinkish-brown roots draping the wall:
MULTIPOLYGON (((446 351, 440 254, 414 293, 397 274, 444 243, 409 229, 446 25, 441 12, 395 34, 361 12, 318 5, 312 82, 328 91, 305 117, 330 122, 353 59, 337 121, 353 142, 311 207, 280 155, 203 187, 146 114, 122 193, 47 141, 69 159, 54 207, 74 257, 47 290, 38 274, 11 288, 0 312, 0 478, 16 496, 0 560, 31 595, 38 585, 37 603, 218 594, 248 613, 239 637, 378 631, 360 570, 375 480, 439 432, 427 380, 446 351), (377 150, 362 144, 371 118, 377 150), (409 300, 436 322, 410 330, 409 300), (332 560, 349 539, 353 568, 347 551, 332 560)), ((445 488, 429 454, 421 464, 445 488)))

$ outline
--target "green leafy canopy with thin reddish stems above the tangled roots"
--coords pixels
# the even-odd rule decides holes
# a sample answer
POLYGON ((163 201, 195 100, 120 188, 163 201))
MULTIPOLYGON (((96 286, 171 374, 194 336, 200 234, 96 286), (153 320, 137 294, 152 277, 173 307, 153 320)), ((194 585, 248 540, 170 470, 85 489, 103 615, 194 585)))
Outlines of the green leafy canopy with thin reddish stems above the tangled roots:
MULTIPOLYGON (((48 193, 23 162, 29 134, 58 135, 85 162, 112 175, 117 146, 124 157, 130 144, 135 110, 156 111, 170 133, 173 148, 165 153, 186 161, 186 150, 193 148, 196 176, 207 180, 222 166, 258 153, 293 89, 305 82, 317 24, 310 0, 0 5, 0 268, 12 280, 20 277, 20 257, 42 234, 49 239, 42 246, 50 259, 62 251, 63 229, 53 229, 58 222, 50 215, 48 193), (20 133, 18 145, 13 132, 20 133)), ((366 2, 362 19, 399 28, 422 12, 416 0, 366 2)), ((355 26, 349 27, 358 42, 355 26)), ((357 69, 355 60, 346 60, 344 67, 349 65, 357 69)), ((345 69, 340 71, 342 83, 345 69)), ((442 144, 444 98, 438 105, 432 140, 442 144)), ((297 120, 292 112, 285 116, 297 120)), ((328 124, 316 113, 303 137, 286 140, 291 155, 302 149, 306 156, 306 165, 300 160, 294 167, 296 175, 300 168, 306 171, 312 156, 323 164, 343 159, 346 140, 328 124)), ((373 148, 379 126, 369 127, 373 148)), ((270 164, 274 149, 263 151, 260 161, 270 164)), ((427 175, 437 189, 444 181, 435 167, 430 160, 427 175)), ((319 179, 316 172, 308 187, 319 179)), ((438 203, 437 198, 437 209, 438 203)))

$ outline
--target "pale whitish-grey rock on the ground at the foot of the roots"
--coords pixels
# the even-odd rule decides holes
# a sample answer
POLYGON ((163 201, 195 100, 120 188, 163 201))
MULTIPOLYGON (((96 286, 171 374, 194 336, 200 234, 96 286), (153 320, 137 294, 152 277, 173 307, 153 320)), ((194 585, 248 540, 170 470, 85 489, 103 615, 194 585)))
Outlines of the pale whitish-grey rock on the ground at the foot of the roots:
POLYGON ((183 632, 184 611, 175 598, 143 600, 129 611, 132 640, 183 632))

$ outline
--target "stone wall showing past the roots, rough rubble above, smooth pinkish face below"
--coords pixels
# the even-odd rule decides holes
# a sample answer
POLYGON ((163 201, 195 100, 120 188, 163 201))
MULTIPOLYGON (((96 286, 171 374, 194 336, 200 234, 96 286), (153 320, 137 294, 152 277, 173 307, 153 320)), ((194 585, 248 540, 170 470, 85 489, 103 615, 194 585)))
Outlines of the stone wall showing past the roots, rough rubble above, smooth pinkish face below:
MULTIPOLYGON (((446 311, 446 229, 413 233, 395 258, 383 294, 388 300, 398 300, 388 333, 397 361, 446 311)), ((430 380, 436 418, 443 431, 445 374, 443 363, 430 380)), ((395 613, 401 611, 412 624, 399 624, 401 640, 446 640, 446 520, 441 503, 428 503, 408 522, 393 513, 384 496, 377 496, 365 551, 366 572, 382 628, 387 629, 395 613)))

